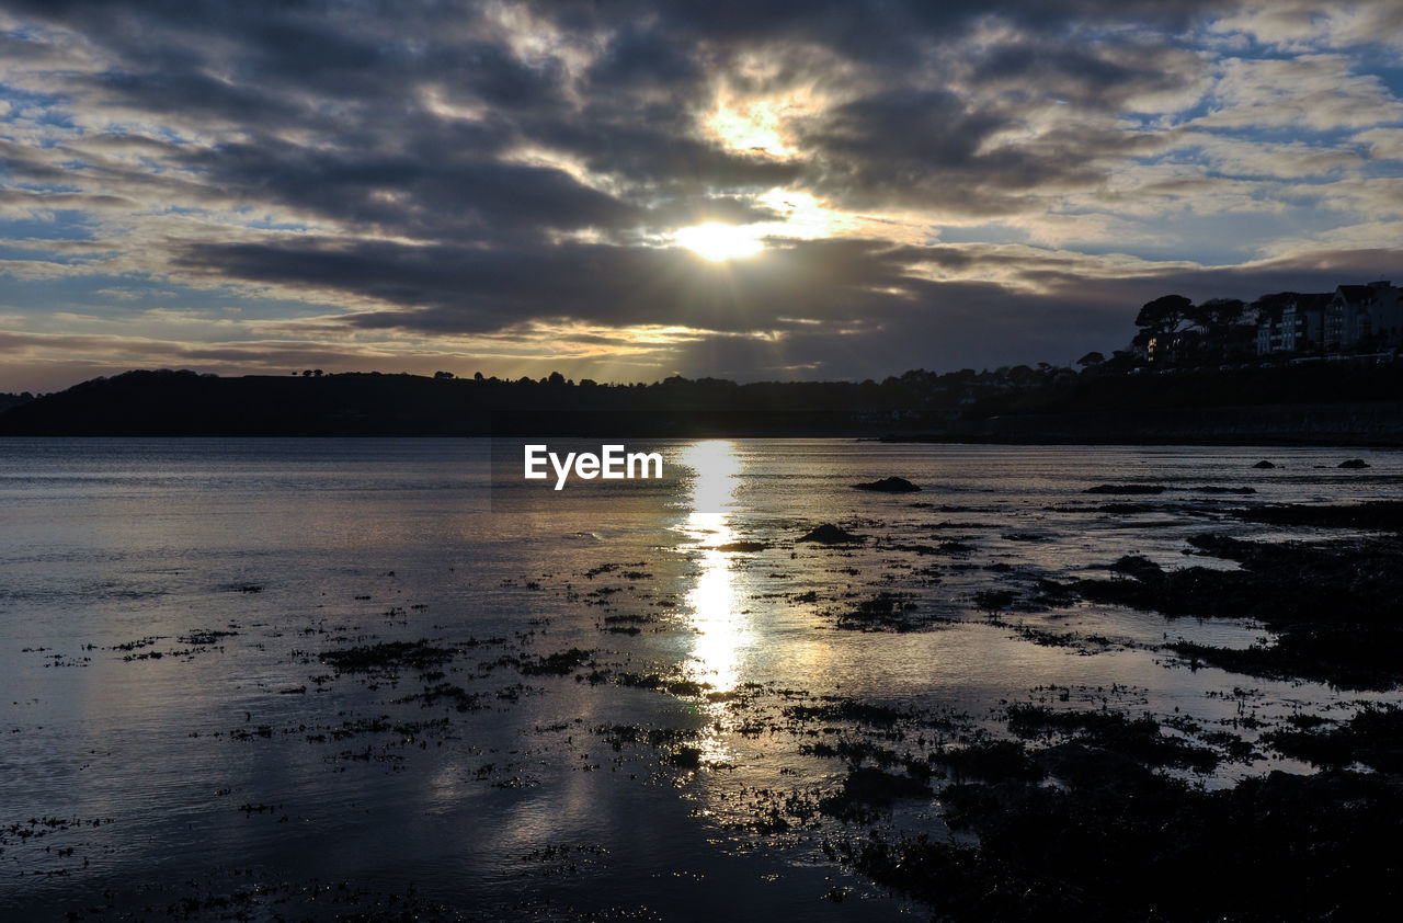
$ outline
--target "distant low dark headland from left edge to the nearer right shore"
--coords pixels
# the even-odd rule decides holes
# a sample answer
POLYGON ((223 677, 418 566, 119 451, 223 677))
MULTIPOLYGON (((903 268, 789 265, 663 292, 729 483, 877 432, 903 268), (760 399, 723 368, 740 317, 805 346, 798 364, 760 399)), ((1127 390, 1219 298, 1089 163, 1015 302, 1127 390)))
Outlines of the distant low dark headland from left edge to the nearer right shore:
MULTIPOLYGON (((897 382, 892 379, 892 382, 897 382)), ((873 432, 911 408, 902 387, 669 379, 599 386, 411 375, 215 377, 128 372, 0 414, 0 435, 457 436, 873 432)), ((934 415, 906 412, 939 426, 934 415)))

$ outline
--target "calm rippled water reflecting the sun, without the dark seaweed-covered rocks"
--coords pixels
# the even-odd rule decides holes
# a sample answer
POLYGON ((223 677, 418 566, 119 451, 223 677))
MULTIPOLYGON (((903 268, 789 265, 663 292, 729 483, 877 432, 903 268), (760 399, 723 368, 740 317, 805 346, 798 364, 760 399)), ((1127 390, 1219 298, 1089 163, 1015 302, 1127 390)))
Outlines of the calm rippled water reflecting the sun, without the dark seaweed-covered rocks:
MULTIPOLYGON (((1316 449, 655 447, 661 483, 554 492, 494 487, 485 440, 0 440, 0 917, 316 916, 320 888, 412 887, 485 919, 890 919, 909 908, 814 837, 746 826, 756 793, 843 767, 730 694, 765 683, 996 728, 1052 687, 1249 739, 1236 718, 1367 697, 1157 648, 1247 645, 1256 626, 1086 605, 991 619, 976 595, 1128 553, 1232 567, 1186 557, 1186 539, 1285 537, 1228 515, 1244 502, 1400 498, 1396 453, 1351 450, 1372 467, 1348 471, 1316 449), (923 491, 852 488, 891 474, 923 491), (1085 494, 1106 483, 1170 490, 1085 494), (1099 511, 1115 499, 1152 509, 1099 511), (868 540, 794 541, 824 522, 868 540), (933 626, 836 627, 882 593, 933 626), (323 656, 418 640, 457 654, 369 672, 323 656), (561 671, 529 666, 561 652, 561 671), (825 901, 835 888, 849 899, 825 901), (205 903, 175 906, 191 895, 205 903)), ((1294 767, 1201 781, 1273 766, 1294 767)), ((944 833, 936 804, 898 819, 944 833)))

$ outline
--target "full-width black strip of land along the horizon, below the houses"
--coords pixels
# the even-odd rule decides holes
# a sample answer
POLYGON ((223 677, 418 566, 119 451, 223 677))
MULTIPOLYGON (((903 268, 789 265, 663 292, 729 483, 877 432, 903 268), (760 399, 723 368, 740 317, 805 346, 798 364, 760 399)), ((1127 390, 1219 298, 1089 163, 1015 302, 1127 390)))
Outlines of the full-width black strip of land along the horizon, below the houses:
POLYGON ((877 382, 654 384, 128 372, 0 414, 0 435, 742 436, 1403 445, 1403 363, 1172 375, 1051 366, 877 382))

